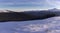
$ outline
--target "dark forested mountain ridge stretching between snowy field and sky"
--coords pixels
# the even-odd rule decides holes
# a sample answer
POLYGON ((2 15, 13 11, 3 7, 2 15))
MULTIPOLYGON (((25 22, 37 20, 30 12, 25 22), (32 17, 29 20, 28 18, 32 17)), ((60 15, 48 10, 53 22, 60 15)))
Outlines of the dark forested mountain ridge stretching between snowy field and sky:
POLYGON ((52 12, 53 10, 40 10, 40 11, 26 11, 14 12, 6 10, 7 12, 0 12, 0 21, 27 21, 46 19, 54 16, 60 16, 60 11, 52 12))

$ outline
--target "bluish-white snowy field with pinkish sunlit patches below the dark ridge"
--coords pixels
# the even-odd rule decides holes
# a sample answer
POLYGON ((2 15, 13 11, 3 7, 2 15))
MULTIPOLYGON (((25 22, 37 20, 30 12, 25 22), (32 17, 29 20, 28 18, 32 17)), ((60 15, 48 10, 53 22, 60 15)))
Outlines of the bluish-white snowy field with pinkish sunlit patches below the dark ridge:
POLYGON ((60 33, 60 17, 0 23, 0 33, 60 33))

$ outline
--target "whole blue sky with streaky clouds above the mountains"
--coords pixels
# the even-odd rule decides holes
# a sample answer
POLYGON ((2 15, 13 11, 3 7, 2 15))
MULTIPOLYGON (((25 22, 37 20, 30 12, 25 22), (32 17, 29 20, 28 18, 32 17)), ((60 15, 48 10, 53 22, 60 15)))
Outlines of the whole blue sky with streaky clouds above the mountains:
POLYGON ((60 0, 0 0, 0 9, 40 10, 59 7, 60 0))

